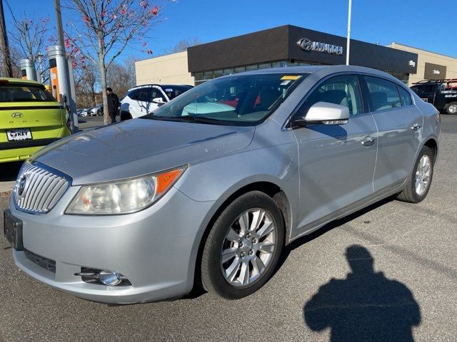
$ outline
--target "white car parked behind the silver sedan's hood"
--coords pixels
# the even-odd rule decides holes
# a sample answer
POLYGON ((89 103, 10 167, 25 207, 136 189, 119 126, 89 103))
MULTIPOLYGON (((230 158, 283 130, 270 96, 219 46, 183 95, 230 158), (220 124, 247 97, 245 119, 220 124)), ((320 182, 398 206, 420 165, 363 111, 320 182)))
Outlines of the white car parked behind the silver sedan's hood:
POLYGON ((192 86, 159 86, 148 84, 131 88, 121 100, 121 120, 139 118, 169 102, 192 86))

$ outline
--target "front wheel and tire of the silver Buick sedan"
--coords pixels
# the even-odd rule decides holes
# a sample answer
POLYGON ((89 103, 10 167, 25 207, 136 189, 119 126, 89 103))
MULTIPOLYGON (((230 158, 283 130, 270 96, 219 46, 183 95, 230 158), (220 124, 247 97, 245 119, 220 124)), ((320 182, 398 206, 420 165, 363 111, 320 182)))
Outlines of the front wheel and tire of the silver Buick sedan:
POLYGON ((273 199, 259 191, 241 195, 216 219, 206 239, 201 257, 204 289, 225 299, 253 294, 273 274, 283 239, 283 215, 273 199), (243 224, 246 219, 248 224, 243 224), (230 250, 225 261, 223 250, 230 250))

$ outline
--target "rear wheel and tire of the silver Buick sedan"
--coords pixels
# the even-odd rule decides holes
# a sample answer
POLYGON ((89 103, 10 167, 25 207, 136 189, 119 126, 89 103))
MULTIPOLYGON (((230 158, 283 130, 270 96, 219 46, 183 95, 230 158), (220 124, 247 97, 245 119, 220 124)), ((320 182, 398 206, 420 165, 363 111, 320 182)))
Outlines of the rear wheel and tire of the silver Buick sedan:
POLYGON ((430 147, 422 147, 414 164, 413 173, 408 177, 405 188, 397 195, 397 199, 403 202, 418 203, 426 198, 433 178, 433 157, 433 151, 430 147), (424 159, 428 160, 428 170, 430 172, 426 172, 426 167, 423 167, 424 159), (422 184, 426 183, 425 188, 418 187, 420 185, 418 182, 420 183, 421 179, 424 180, 422 184))

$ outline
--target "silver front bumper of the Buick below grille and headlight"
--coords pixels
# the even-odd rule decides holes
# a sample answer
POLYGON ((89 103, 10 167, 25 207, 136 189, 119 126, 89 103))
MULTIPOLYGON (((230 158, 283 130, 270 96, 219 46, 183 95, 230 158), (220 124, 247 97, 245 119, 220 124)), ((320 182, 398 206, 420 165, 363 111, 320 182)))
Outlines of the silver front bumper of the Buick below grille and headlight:
POLYGON ((141 212, 116 216, 66 215, 79 190, 70 187, 47 214, 11 214, 22 220, 24 249, 55 261, 55 273, 13 252, 20 269, 35 279, 84 299, 128 304, 181 296, 191 291, 206 217, 214 202, 196 202, 176 188, 141 212), (131 286, 84 282, 81 267, 116 271, 131 286))

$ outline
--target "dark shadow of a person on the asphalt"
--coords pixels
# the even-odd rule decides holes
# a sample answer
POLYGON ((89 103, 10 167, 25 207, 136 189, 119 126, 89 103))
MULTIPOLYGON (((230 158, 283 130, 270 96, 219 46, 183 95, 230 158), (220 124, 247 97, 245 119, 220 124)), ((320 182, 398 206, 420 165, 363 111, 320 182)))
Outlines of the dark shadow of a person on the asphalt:
POLYGON ((411 291, 375 273, 365 247, 348 247, 346 259, 346 279, 331 279, 305 304, 306 325, 330 328, 330 341, 414 341, 411 329, 421 323, 421 311, 411 291))

